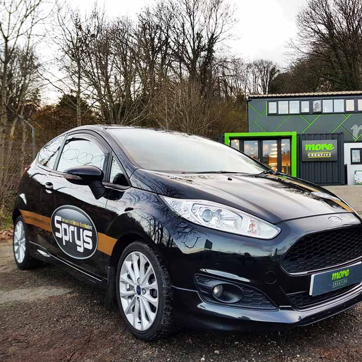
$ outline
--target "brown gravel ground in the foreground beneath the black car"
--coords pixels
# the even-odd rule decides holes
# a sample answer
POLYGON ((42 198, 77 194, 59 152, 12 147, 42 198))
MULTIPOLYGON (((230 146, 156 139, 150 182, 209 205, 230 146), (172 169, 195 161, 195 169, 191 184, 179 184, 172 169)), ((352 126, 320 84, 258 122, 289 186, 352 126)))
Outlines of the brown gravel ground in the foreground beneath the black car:
POLYGON ((4 361, 362 361, 362 305, 283 333, 183 330, 136 340, 104 293, 56 267, 20 271, 0 242, 0 360, 4 361))

